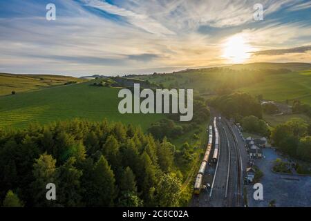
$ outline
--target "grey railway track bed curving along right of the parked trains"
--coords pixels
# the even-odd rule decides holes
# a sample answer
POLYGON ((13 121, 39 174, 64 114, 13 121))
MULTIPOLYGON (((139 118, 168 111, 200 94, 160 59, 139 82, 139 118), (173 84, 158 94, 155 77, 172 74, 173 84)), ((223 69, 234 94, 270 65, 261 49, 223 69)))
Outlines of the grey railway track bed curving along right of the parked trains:
MULTIPOLYGON (((214 164, 216 167, 211 190, 209 194, 194 195, 192 205, 243 206, 243 166, 238 140, 227 119, 219 118, 217 127, 219 137, 218 159, 214 164)), ((214 155, 212 160, 214 160, 214 155)), ((207 183, 206 180, 203 182, 207 183)))

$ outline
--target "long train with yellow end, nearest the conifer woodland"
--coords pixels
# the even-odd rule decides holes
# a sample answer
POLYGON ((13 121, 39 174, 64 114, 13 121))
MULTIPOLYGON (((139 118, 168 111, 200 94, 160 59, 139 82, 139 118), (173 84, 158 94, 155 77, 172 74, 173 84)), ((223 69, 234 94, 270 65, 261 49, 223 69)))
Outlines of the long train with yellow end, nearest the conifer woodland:
POLYGON ((203 157, 200 169, 198 171, 198 175, 196 175, 196 182, 194 183, 195 194, 200 194, 200 191, 202 188, 202 182, 203 182, 203 175, 205 173, 205 169, 208 164, 209 154, 211 153, 211 144, 213 143, 213 127, 209 125, 209 128, 207 129, 207 131, 209 132, 209 141, 207 143, 207 148, 206 148, 205 155, 203 157))

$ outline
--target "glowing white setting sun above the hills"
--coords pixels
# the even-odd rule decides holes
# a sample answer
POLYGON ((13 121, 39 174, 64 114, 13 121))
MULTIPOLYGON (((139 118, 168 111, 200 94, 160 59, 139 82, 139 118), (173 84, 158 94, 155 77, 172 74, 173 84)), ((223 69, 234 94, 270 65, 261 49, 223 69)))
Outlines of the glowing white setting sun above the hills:
POLYGON ((233 64, 243 63, 251 57, 252 46, 246 43, 243 35, 229 37, 223 44, 223 55, 225 59, 233 64))

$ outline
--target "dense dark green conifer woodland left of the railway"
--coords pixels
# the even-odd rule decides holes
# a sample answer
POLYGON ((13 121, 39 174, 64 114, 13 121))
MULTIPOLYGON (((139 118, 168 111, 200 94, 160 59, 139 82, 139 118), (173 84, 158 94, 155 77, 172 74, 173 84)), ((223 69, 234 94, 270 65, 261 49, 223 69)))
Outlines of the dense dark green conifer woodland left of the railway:
MULTIPOLYGON (((187 144, 184 148, 189 148, 187 144)), ((73 120, 0 131, 2 206, 179 206, 187 158, 121 123, 73 120), (177 171, 177 173, 176 173, 177 171), (46 200, 55 183, 57 200, 46 200)))

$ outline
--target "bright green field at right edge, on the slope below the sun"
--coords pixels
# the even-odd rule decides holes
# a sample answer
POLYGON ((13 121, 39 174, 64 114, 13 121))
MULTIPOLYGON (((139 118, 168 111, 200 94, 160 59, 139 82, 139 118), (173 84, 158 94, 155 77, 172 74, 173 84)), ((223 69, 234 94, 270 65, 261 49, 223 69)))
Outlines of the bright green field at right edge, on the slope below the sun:
POLYGON ((265 81, 238 90, 252 95, 263 95, 263 99, 276 102, 299 99, 311 105, 311 70, 271 75, 265 81))

